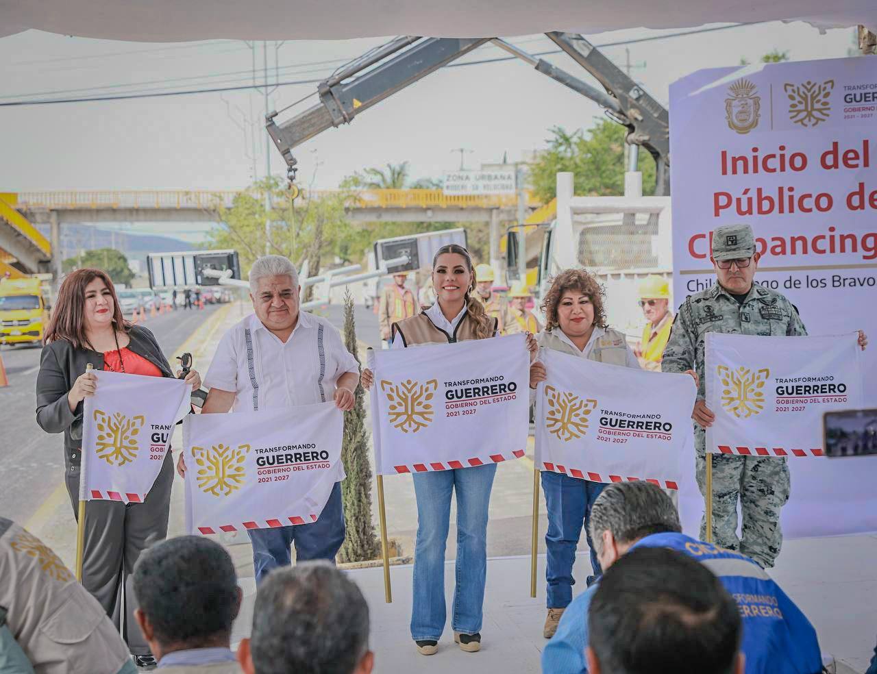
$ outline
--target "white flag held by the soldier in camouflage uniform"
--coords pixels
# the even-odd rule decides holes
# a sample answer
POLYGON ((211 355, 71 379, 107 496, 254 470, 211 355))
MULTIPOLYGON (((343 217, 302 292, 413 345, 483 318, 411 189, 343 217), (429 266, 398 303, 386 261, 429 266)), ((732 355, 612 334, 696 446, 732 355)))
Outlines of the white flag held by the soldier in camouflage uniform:
POLYGON ((824 413, 862 406, 857 338, 708 332, 707 451, 822 456, 824 413))

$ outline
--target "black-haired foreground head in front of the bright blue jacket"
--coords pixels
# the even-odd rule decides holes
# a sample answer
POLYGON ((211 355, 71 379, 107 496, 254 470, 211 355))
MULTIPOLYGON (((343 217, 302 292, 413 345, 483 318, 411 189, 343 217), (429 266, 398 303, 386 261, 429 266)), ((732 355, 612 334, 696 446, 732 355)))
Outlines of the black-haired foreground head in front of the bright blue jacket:
POLYGON ((742 674, 740 612, 712 571, 668 548, 637 548, 588 607, 592 674, 742 674))

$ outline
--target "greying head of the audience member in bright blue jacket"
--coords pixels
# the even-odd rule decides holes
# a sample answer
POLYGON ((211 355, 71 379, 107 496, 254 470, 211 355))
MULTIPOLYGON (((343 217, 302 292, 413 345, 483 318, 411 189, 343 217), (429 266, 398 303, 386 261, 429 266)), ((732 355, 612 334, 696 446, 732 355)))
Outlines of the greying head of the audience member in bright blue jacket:
POLYGON ((603 569, 640 538, 681 530, 679 513, 667 493, 643 480, 607 486, 591 507, 591 540, 603 569))

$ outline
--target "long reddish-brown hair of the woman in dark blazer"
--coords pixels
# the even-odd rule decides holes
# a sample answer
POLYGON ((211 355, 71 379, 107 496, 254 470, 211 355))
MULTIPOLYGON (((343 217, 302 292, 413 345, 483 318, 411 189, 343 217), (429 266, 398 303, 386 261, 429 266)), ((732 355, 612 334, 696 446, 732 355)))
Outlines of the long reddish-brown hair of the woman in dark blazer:
POLYGON ((54 303, 52 318, 46 328, 45 344, 56 339, 66 339, 76 349, 85 348, 88 343, 85 337, 85 288, 95 279, 103 280, 106 287, 110 289, 113 327, 124 332, 131 329, 131 323, 127 323, 122 316, 116 288, 113 287, 110 277, 100 269, 77 269, 68 274, 58 290, 58 299, 54 303))

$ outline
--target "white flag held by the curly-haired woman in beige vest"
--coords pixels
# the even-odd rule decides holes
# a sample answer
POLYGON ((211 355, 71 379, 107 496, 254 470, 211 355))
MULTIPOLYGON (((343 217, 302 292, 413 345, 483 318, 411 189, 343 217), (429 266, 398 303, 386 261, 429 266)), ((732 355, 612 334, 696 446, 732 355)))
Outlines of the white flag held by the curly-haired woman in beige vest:
POLYGON ((558 351, 542 355, 536 396, 536 465, 594 482, 645 479, 677 489, 691 436, 695 382, 558 351))

